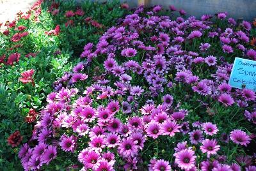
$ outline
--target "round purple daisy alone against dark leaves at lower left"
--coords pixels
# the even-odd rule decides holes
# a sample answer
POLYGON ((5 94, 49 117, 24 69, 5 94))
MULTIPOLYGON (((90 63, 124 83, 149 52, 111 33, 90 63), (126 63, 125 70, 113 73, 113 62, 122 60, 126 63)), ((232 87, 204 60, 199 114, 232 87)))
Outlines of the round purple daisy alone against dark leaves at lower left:
POLYGON ((76 137, 74 137, 74 135, 71 135, 71 137, 62 135, 60 138, 60 146, 63 151, 74 152, 76 149, 76 137))

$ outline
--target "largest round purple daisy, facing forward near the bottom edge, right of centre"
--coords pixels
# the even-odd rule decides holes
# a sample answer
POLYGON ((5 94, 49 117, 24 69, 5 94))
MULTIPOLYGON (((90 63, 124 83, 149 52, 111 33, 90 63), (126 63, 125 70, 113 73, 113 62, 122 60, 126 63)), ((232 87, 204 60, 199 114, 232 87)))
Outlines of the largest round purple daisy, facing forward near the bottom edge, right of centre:
POLYGON ((182 151, 173 154, 173 156, 175 156, 175 163, 178 167, 184 170, 189 170, 195 167, 196 156, 194 154, 195 152, 191 149, 183 149, 182 151))

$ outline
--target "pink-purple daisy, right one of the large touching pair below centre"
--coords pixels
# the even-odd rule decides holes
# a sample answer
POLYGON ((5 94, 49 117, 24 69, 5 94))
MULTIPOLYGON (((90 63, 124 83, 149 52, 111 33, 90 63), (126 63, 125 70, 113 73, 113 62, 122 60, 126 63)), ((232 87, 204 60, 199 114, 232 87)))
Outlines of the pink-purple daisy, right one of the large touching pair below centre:
POLYGON ((179 126, 176 121, 167 120, 164 121, 163 124, 161 124, 160 132, 161 135, 168 135, 170 137, 173 137, 175 133, 180 132, 179 128, 181 128, 181 126, 179 126))

